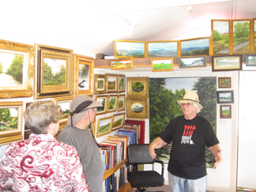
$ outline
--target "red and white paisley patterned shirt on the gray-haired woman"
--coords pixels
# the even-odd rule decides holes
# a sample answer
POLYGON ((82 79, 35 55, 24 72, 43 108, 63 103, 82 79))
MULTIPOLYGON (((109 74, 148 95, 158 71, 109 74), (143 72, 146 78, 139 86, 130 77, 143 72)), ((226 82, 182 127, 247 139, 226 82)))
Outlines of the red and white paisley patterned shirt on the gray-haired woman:
POLYGON ((88 185, 75 149, 51 134, 31 134, 12 143, 0 161, 0 191, 86 192, 88 185))

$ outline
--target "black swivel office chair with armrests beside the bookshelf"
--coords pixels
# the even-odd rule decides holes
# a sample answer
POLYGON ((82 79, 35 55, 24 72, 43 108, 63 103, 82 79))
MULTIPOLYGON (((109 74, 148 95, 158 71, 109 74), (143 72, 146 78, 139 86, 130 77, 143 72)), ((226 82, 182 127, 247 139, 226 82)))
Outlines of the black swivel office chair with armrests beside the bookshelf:
POLYGON ((152 160, 149 154, 149 144, 134 144, 127 147, 127 179, 130 186, 137 191, 146 191, 145 188, 164 185, 164 162, 152 160), (161 175, 154 171, 154 163, 162 165, 161 175), (137 164, 152 164, 152 171, 137 171, 137 164), (130 168, 133 165, 133 168, 130 168), (132 169, 132 170, 130 170, 132 169))

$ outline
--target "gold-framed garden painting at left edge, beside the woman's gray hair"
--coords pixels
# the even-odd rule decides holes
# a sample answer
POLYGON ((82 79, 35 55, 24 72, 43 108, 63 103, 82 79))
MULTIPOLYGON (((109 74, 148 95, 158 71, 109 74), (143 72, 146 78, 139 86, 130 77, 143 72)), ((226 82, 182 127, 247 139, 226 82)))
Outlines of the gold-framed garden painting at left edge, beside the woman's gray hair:
POLYGON ((22 140, 23 102, 0 102, 0 145, 22 140))

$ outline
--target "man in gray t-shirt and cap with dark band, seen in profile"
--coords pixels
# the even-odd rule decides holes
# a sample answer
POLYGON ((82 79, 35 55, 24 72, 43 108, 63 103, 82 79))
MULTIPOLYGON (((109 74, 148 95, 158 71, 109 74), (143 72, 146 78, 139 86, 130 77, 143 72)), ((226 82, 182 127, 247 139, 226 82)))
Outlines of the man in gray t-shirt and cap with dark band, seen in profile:
POLYGON ((73 145, 77 149, 91 192, 103 190, 104 176, 99 148, 91 130, 87 128, 92 122, 95 122, 96 107, 103 107, 103 105, 89 96, 75 97, 70 104, 70 116, 66 126, 58 135, 58 141, 73 145))

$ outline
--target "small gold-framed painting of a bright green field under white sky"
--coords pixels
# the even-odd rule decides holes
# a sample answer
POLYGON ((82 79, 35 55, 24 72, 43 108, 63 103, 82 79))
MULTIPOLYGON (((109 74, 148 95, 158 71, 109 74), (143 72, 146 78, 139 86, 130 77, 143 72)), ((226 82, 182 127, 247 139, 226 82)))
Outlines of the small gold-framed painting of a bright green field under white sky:
POLYGON ((173 58, 151 58, 152 71, 174 70, 173 58))

